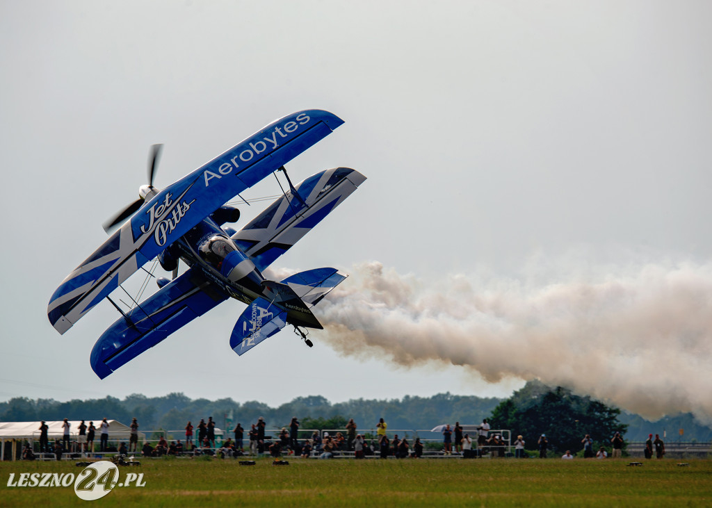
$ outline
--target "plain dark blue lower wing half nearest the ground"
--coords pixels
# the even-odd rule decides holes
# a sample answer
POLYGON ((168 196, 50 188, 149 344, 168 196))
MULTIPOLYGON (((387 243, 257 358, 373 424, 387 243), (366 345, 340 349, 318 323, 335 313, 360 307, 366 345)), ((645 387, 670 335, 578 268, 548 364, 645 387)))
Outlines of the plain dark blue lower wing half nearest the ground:
POLYGON ((227 298, 192 269, 187 270, 99 337, 91 351, 91 368, 104 379, 227 298))

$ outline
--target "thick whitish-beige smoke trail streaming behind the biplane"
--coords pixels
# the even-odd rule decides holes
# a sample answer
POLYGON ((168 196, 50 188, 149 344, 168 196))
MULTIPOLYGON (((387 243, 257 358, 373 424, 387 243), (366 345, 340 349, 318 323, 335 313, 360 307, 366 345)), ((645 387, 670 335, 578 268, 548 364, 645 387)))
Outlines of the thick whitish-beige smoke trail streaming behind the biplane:
POLYGON ((709 265, 473 287, 462 275, 427 284, 367 263, 319 307, 340 354, 444 362, 493 382, 540 379, 646 418, 684 411, 712 421, 709 265))

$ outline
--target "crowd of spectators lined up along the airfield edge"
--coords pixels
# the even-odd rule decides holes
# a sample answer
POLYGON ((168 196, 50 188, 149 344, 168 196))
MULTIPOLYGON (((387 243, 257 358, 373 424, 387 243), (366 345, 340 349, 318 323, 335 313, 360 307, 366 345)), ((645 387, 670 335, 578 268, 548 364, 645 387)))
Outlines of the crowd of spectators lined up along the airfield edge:
MULTIPOLYGON (((129 455, 137 453, 138 442, 138 422, 136 418, 132 418, 130 425, 130 439, 128 447, 126 443, 120 443, 118 448, 110 448, 108 446, 108 429, 109 423, 107 418, 104 418, 97 429, 92 422, 85 425, 84 420, 78 426, 78 451, 81 453, 95 452, 95 433, 100 431, 100 447, 99 452, 116 452, 119 455, 129 455)), ((194 439, 194 426, 192 422, 188 422, 185 426, 185 443, 181 440, 172 440, 170 443, 164 436, 161 436, 158 442, 153 446, 151 443, 144 443, 140 449, 140 453, 145 457, 162 457, 164 455, 216 455, 221 458, 225 457, 241 457, 243 455, 271 455, 278 458, 283 454, 294 455, 295 457, 319 457, 322 459, 330 459, 342 453, 352 453, 355 459, 363 459, 369 455, 377 455, 381 458, 395 457, 404 459, 408 457, 419 458, 424 455, 426 446, 420 438, 416 438, 410 442, 407 437, 399 438, 398 434, 393 434, 389 437, 387 428, 388 425, 384 418, 380 418, 376 424, 376 432, 374 435, 367 433, 357 433, 357 425, 353 418, 348 420, 345 425, 345 433, 337 430, 330 434, 328 431, 321 433, 314 430, 309 438, 299 438, 300 422, 298 418, 291 419, 288 427, 282 427, 275 435, 266 435, 266 421, 263 417, 257 419, 256 423, 250 425, 250 429, 245 435, 245 428, 241 423, 238 423, 232 430, 234 440, 229 437, 224 443, 216 446, 215 437, 215 422, 212 417, 207 421, 201 419, 197 425, 197 436, 194 439), (248 445, 245 445, 245 439, 248 440, 248 445)), ((48 442, 48 427, 43 421, 39 428, 40 440, 39 450, 41 453, 53 453, 58 459, 63 453, 71 453, 69 430, 70 424, 68 419, 63 421, 63 439, 56 440, 53 445, 48 442)), ((304 433, 303 433, 304 434, 304 433)), ((476 427, 471 436, 464 432, 463 427, 459 422, 456 422, 454 427, 447 424, 442 430, 442 448, 441 450, 433 450, 430 443, 429 453, 442 453, 444 455, 461 455, 464 458, 476 458, 487 455, 488 457, 505 457, 511 456, 513 448, 515 458, 528 457, 525 451, 525 440, 523 435, 518 435, 513 443, 508 443, 504 440, 500 431, 491 430, 487 419, 484 419, 480 425, 476 427)), ((622 457, 624 448, 624 440, 620 433, 615 433, 610 439, 609 449, 613 458, 622 457)), ((536 445, 538 448, 538 456, 546 458, 551 448, 549 438, 545 434, 541 434, 536 445)), ((584 458, 604 459, 609 456, 606 446, 600 446, 597 452, 594 452, 594 441, 589 434, 586 434, 581 440, 582 456, 584 458)), ((657 458, 662 458, 665 455, 665 445, 659 435, 650 434, 645 443, 644 454, 646 458, 651 458, 655 455, 657 458)), ((575 457, 571 450, 566 450, 562 455, 562 459, 571 460, 575 457)), ((22 450, 22 457, 25 460, 33 460, 35 454, 29 445, 26 445, 22 450)))

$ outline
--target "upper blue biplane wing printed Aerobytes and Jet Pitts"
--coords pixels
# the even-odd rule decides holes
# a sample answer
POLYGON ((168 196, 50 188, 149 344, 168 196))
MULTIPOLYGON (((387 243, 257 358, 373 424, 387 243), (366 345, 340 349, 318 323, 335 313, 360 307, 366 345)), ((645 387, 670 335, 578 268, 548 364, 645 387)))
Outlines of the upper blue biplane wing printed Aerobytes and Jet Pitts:
POLYGON ((342 123, 326 111, 293 113, 160 191, 57 288, 47 309, 53 327, 66 332, 147 260, 342 123))

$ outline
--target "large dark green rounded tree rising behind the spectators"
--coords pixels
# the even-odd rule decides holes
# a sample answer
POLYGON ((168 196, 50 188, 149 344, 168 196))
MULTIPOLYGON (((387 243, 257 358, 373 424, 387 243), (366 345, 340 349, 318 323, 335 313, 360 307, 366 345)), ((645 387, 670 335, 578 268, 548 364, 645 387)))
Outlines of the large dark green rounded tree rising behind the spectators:
POLYGON ((586 434, 596 446, 609 445, 616 432, 624 434, 627 425, 618 421, 620 412, 561 386, 548 388, 530 381, 494 408, 490 423, 492 428, 507 428, 514 435, 523 435, 530 448, 546 434, 551 448, 575 453, 583 448, 581 440, 586 434))

